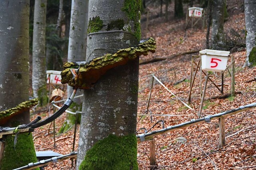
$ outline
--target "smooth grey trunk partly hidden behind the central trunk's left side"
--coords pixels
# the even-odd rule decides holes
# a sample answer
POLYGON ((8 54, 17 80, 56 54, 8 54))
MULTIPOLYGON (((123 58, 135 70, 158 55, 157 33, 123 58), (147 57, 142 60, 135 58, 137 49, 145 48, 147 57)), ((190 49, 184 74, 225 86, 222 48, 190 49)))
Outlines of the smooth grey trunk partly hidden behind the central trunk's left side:
MULTIPOLYGON (((72 0, 70 32, 68 42, 68 62, 85 61, 87 44, 87 24, 88 24, 88 2, 89 0, 72 0)), ((71 96, 73 88, 68 86, 68 96, 71 96)), ((76 96, 83 94, 83 90, 78 90, 76 96)), ((70 106, 72 111, 81 111, 82 97, 75 98, 70 106)), ((80 115, 79 115, 80 116, 80 115)), ((62 125, 59 133, 63 133, 75 124, 76 115, 67 114, 66 121, 62 125)))

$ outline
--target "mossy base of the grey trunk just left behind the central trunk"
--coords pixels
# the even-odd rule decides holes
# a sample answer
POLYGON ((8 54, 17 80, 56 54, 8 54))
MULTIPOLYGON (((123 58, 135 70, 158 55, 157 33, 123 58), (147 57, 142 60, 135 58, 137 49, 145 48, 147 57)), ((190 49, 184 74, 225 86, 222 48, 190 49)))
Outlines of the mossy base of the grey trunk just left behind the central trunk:
MULTIPOLYGON (((68 110, 76 113, 76 111, 82 110, 82 103, 81 104, 76 104, 76 102, 73 102, 68 107, 68 110)), ((70 129, 70 127, 72 127, 76 123, 76 115, 73 115, 73 114, 70 114, 70 113, 67 113, 67 114, 68 115, 66 117, 66 120, 63 123, 62 127, 60 128, 60 131, 58 132, 58 134, 65 133, 66 131, 68 131, 70 129)), ((78 124, 81 123, 81 114, 77 115, 77 123, 78 124)))

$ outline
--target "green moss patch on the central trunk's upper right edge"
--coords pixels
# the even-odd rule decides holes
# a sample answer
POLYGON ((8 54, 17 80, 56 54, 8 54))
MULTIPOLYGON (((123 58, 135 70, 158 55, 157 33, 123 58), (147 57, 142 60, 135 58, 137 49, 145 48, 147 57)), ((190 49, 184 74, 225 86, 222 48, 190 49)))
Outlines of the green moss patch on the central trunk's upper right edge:
POLYGON ((124 0, 124 11, 130 20, 134 21, 134 35, 136 39, 140 40, 140 10, 141 0, 124 0))

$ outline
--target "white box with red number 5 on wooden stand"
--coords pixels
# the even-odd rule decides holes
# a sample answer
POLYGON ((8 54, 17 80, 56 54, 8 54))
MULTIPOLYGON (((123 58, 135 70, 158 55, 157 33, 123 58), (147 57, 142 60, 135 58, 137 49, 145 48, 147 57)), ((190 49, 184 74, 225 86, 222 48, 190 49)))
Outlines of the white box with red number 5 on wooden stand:
POLYGON ((230 51, 204 49, 199 53, 202 59, 202 70, 223 71, 226 69, 230 51))

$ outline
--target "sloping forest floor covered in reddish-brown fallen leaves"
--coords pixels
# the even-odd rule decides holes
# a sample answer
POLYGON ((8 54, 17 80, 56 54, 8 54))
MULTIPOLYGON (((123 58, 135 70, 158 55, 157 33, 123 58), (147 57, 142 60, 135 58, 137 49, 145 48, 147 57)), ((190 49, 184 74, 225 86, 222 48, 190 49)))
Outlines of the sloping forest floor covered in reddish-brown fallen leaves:
MULTIPOLYGON (((158 19, 160 20, 160 19, 158 19)), ((172 20, 166 23, 149 25, 146 37, 154 37, 157 43, 156 53, 148 56, 141 56, 140 61, 150 60, 156 57, 171 57, 174 54, 192 50, 205 49, 206 29, 194 27, 184 31, 184 20, 172 20)), ((231 28, 243 35, 244 13, 236 12, 229 16, 225 22, 226 32, 231 28)), ((198 55, 198 53, 196 53, 198 55)), ((235 90, 240 92, 235 97, 224 99, 210 99, 214 96, 220 96, 218 89, 208 81, 208 88, 204 100, 202 116, 213 115, 227 111, 239 106, 244 106, 256 102, 256 81, 255 68, 242 68, 245 59, 245 49, 231 53, 235 57, 235 90)), ((195 60, 196 63, 198 59, 195 60)), ((230 59, 228 60, 228 64, 230 59)), ((139 72, 139 94, 138 94, 138 114, 144 114, 147 108, 147 101, 154 74, 170 91, 184 102, 188 100, 190 90, 190 67, 191 55, 172 57, 160 62, 140 65, 139 72), (144 77, 146 76, 146 77, 144 77), (184 80, 174 85, 178 80, 184 80)), ((195 70, 194 65, 194 70, 195 70)), ((210 78, 215 80, 219 72, 212 72, 210 78)), ((205 77, 203 76, 204 85, 205 77)), ((218 78, 215 83, 219 86, 221 79, 218 78)), ((224 73, 224 94, 230 93, 231 77, 228 72, 224 73)), ((142 127, 150 129, 157 121, 163 120, 164 127, 177 125, 196 119, 196 112, 184 107, 184 105, 165 90, 158 82, 154 81, 152 95, 149 104, 149 110, 152 114, 170 114, 174 116, 138 116, 137 130, 142 127), (140 120, 140 121, 139 121, 140 120)), ((192 91, 192 102, 190 107, 199 111, 200 107, 200 78, 196 76, 194 88, 192 91)), ((240 169, 256 165, 256 115, 255 109, 250 109, 225 119, 226 145, 219 148, 219 128, 218 120, 212 120, 210 123, 202 123, 176 130, 164 135, 154 137, 156 142, 156 169, 159 170, 217 170, 217 169, 240 169), (237 133, 238 132, 238 133, 237 133), (182 138, 181 138, 182 137, 182 138), (183 140, 180 140, 183 139, 183 140)), ((43 118, 48 117, 48 113, 42 112, 38 115, 43 118)), ((33 115, 33 119, 37 115, 33 115)), ((64 113, 56 119, 56 131, 61 127, 66 118, 64 113)), ((35 129, 33 133, 34 145, 36 151, 53 150, 61 154, 68 154, 72 151, 74 127, 70 131, 56 136, 56 146, 54 147, 53 135, 48 133, 50 125, 45 125, 35 129)), ((157 124, 152 130, 161 129, 162 125, 157 124)), ((52 126, 50 131, 52 131, 52 126)), ((138 131, 144 133, 144 131, 138 131)), ((79 125, 76 133, 75 150, 78 148, 79 125)), ((138 165, 140 170, 150 168, 149 161, 149 142, 138 143, 138 165)), ((50 164, 45 170, 71 170, 70 160, 64 160, 55 164, 50 164)), ((256 167, 244 168, 246 170, 256 169, 256 167)))

